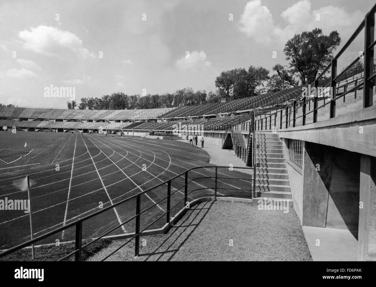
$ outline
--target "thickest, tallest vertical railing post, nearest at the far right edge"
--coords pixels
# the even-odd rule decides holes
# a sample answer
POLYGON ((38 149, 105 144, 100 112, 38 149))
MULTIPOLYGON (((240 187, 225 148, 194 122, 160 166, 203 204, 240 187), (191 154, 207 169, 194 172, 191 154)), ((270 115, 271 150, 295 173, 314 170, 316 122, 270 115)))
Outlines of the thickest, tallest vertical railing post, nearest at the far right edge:
POLYGON ((373 105, 374 79, 367 80, 373 75, 373 49, 368 48, 374 41, 374 13, 367 13, 364 21, 364 76, 363 76, 363 108, 373 105))

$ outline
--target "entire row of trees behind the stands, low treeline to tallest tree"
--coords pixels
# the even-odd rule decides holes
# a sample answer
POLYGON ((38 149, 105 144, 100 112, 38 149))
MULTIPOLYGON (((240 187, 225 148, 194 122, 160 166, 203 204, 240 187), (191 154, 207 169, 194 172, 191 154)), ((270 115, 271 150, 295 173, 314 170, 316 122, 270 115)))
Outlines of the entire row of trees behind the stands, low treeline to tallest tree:
MULTIPOLYGON (((155 109, 163 107, 188 106, 215 103, 226 98, 236 100, 252 97, 265 92, 281 91, 287 88, 312 83, 321 71, 329 64, 334 50, 340 45, 341 38, 337 31, 323 35, 321 29, 312 32, 302 32, 294 35, 285 44, 284 53, 289 66, 276 64, 273 66, 275 74, 269 76, 269 70, 263 67, 250 66, 248 69, 237 68, 223 71, 215 79, 217 91, 197 91, 184 88, 173 94, 156 95, 125 95, 115 93, 104 95, 102 98, 81 98, 79 109, 155 109)), ((361 62, 349 71, 361 69, 361 62)), ((69 109, 77 104, 67 103, 69 109)))

